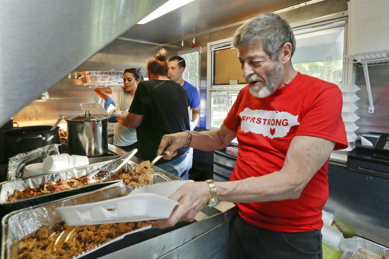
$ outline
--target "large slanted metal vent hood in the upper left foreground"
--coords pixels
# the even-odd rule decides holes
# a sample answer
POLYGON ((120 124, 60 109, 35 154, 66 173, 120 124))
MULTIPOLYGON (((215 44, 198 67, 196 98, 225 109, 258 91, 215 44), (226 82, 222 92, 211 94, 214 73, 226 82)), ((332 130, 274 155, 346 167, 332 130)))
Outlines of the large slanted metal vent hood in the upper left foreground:
POLYGON ((0 0, 0 126, 167 0, 0 0))

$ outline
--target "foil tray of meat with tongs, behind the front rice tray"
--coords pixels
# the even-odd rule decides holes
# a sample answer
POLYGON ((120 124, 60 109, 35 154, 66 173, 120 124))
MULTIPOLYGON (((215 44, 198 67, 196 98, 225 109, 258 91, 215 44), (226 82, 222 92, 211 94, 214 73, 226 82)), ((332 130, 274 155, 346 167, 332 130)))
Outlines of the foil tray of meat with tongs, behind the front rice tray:
MULTIPOLYGON (((123 160, 124 159, 120 159, 114 164, 112 164, 111 166, 102 170, 100 174, 100 176, 103 175, 102 177, 98 177, 97 175, 91 176, 90 178, 93 181, 93 184, 91 185, 69 189, 69 190, 63 190, 59 192, 53 192, 49 194, 43 194, 40 196, 23 199, 15 202, 7 202, 8 197, 14 192, 14 190, 22 191, 28 187, 35 188, 41 184, 47 184, 47 183, 58 181, 60 178, 70 179, 73 177, 78 178, 82 176, 88 176, 91 172, 96 172, 96 170, 99 170, 99 168, 107 165, 107 163, 109 163, 110 161, 88 165, 88 166, 79 166, 72 169, 42 174, 42 175, 23 178, 15 181, 4 182, 0 184, 0 217, 3 217, 7 213, 12 212, 14 210, 34 206, 37 204, 51 202, 53 200, 58 200, 75 194, 93 191, 105 187, 107 185, 112 185, 115 182, 108 182, 111 179, 112 175, 114 174, 114 173, 112 174, 111 171, 113 168, 119 166, 123 162, 123 160)), ((131 170, 137 165, 138 164, 129 161, 122 168, 131 170)))

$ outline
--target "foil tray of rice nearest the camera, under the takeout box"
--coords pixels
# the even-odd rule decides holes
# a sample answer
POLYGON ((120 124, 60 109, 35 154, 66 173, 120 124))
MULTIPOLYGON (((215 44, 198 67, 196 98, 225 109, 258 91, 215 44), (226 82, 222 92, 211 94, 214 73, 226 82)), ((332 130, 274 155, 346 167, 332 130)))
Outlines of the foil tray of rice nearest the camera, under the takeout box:
MULTIPOLYGON (((171 181, 171 179, 156 172, 151 184, 166 181, 171 181)), ((1 221, 1 259, 17 258, 18 240, 36 231, 41 226, 48 225, 49 227, 52 227, 55 223, 61 222, 62 217, 55 210, 56 207, 100 202, 118 198, 129 194, 135 188, 135 186, 126 186, 123 181, 114 182, 112 185, 99 190, 78 194, 50 203, 35 205, 30 208, 24 208, 7 214, 1 221)), ((141 229, 128 232, 73 258, 97 258, 166 232, 167 230, 163 231, 160 229, 152 229, 151 226, 146 226, 141 229), (145 231, 146 233, 142 233, 145 231)))

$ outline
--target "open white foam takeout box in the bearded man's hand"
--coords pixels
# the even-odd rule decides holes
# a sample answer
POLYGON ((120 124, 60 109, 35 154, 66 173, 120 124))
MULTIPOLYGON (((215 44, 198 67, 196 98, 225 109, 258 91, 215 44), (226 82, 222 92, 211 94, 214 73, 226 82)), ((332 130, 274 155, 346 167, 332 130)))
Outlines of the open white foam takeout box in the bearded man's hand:
POLYGON ((167 197, 189 182, 193 181, 175 180, 147 185, 123 197, 55 209, 71 226, 166 219, 179 204, 167 197))

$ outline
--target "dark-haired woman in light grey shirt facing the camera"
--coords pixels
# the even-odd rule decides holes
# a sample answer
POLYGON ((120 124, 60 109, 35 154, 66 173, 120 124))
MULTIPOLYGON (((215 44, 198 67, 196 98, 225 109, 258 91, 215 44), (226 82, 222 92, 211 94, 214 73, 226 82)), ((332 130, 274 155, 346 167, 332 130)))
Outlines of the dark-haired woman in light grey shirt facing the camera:
MULTIPOLYGON (((143 81, 141 68, 127 68, 123 73, 123 86, 99 87, 94 90, 97 96, 105 100, 104 109, 107 110, 110 104, 115 106, 115 113, 111 115, 108 122, 116 122, 114 118, 120 111, 123 111, 123 115, 127 114, 135 91, 141 81, 143 81)), ((137 148, 137 134, 135 129, 130 129, 116 123, 114 124, 113 133, 113 145, 126 151, 137 148)))

